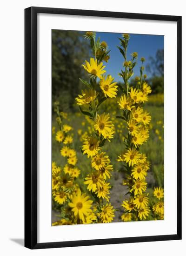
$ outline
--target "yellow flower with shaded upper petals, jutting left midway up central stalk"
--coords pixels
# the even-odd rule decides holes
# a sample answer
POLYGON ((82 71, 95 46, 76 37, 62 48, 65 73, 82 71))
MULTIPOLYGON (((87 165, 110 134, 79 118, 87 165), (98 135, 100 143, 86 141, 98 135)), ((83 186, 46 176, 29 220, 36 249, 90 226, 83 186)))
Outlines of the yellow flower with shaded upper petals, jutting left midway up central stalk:
POLYGON ((88 158, 96 155, 100 150, 98 139, 92 136, 85 139, 82 150, 83 154, 87 154, 88 158))

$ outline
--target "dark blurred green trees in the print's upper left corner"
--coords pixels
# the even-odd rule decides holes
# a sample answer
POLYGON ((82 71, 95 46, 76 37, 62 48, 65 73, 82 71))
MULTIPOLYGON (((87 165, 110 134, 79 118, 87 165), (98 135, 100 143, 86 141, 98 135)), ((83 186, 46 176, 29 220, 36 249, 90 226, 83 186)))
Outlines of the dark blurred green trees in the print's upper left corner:
POLYGON ((72 108, 84 77, 81 64, 88 58, 90 47, 78 31, 52 30, 52 94, 64 111, 72 108))

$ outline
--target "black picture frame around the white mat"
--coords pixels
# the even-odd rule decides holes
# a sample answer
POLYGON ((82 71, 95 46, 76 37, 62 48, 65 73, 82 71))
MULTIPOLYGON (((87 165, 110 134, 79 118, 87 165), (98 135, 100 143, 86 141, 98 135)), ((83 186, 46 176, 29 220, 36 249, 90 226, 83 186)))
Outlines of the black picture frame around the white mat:
POLYGON ((181 16, 46 7, 25 9, 25 247, 29 249, 181 239, 181 16), (177 233, 54 243, 37 242, 37 14, 53 13, 177 22, 177 233))

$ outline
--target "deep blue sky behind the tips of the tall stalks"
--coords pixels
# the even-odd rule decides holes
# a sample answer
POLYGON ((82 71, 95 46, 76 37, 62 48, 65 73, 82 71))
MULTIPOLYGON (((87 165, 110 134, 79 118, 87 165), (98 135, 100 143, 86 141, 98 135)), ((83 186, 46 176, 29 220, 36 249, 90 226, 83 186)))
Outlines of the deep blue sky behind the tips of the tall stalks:
MULTIPOLYGON (((115 81, 122 81, 122 78, 118 73, 122 69, 122 64, 124 62, 123 56, 120 54, 119 49, 116 46, 120 46, 121 34, 118 33, 103 33, 97 32, 96 38, 100 36, 100 41, 106 41, 108 44, 108 49, 111 50, 110 60, 106 63, 106 72, 111 74, 115 81)), ((138 64, 134 68, 134 75, 140 74, 139 67, 141 66, 140 58, 145 57, 146 61, 144 66, 146 66, 150 56, 155 57, 158 49, 164 48, 164 36, 163 35, 145 35, 145 34, 130 34, 130 40, 127 48, 127 60, 131 58, 131 53, 138 53, 138 64)), ((145 73, 144 73, 145 74, 145 73)), ((146 72, 146 74, 148 74, 146 72)))

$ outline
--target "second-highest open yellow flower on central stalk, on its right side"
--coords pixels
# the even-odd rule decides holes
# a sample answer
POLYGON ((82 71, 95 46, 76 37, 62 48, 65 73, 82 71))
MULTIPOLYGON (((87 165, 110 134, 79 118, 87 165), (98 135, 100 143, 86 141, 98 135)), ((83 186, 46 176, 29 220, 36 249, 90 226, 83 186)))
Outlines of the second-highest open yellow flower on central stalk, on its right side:
POLYGON ((100 80, 100 88, 105 94, 105 96, 108 96, 110 98, 116 97, 116 92, 118 91, 117 83, 113 83, 114 78, 112 78, 111 75, 108 75, 107 77, 103 76, 103 78, 100 80))

